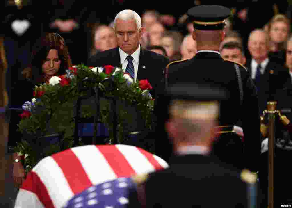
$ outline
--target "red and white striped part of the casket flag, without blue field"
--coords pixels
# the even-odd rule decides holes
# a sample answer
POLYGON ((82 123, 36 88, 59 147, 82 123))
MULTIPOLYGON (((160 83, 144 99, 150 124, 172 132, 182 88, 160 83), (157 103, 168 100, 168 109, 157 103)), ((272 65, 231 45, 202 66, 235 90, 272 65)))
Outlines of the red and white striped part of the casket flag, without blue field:
POLYGON ((131 145, 84 145, 41 160, 27 175, 14 208, 61 208, 87 188, 168 167, 160 157, 131 145))

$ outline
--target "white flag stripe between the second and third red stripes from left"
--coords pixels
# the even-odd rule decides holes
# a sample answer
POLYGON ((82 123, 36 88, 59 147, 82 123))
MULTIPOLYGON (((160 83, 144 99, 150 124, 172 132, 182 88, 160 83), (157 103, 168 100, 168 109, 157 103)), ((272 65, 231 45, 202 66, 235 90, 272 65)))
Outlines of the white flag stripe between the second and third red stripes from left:
POLYGON ((117 178, 113 169, 95 145, 74 147, 71 150, 78 157, 93 185, 117 178))

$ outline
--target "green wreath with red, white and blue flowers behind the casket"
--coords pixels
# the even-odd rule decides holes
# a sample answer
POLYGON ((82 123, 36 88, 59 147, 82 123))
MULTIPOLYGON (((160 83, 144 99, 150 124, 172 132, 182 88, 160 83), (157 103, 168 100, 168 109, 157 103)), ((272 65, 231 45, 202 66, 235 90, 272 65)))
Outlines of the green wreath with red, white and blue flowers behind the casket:
MULTIPOLYGON (((31 169, 40 159, 61 151, 59 144, 46 143, 44 138, 50 134, 62 135, 64 149, 70 148, 74 141, 75 106, 77 98, 90 96, 93 89, 99 89, 106 97, 115 97, 134 106, 145 120, 145 126, 152 128, 152 111, 154 100, 150 94, 152 86, 147 80, 134 81, 121 67, 106 65, 104 67, 87 67, 83 64, 71 67, 62 76, 54 76, 49 84, 34 87, 33 98, 22 105, 23 112, 18 124, 19 131, 27 134, 15 147, 15 152, 28 155, 24 167, 31 169), (111 79, 112 90, 106 82, 111 79), (39 145, 39 146, 38 146, 39 145), (36 151, 39 150, 39 151, 36 151)), ((100 104, 102 123, 108 127, 112 140, 112 109, 109 102, 100 104)), ((118 115, 118 139, 125 137, 124 124, 131 120, 127 109, 120 109, 118 115)), ((94 117, 96 109, 92 106, 81 106, 81 117, 94 117)))

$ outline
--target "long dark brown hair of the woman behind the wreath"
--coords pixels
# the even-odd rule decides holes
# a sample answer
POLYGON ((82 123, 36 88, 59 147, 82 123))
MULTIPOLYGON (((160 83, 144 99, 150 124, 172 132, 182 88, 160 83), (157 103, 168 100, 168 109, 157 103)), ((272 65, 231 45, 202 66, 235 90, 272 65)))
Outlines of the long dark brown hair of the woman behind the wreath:
POLYGON ((71 67, 72 63, 65 40, 57 33, 46 33, 33 47, 30 65, 27 69, 22 71, 25 78, 29 79, 34 84, 40 84, 46 81, 42 71, 42 65, 51 49, 58 51, 58 56, 61 60, 60 70, 56 75, 58 76, 66 73, 66 70, 71 67))

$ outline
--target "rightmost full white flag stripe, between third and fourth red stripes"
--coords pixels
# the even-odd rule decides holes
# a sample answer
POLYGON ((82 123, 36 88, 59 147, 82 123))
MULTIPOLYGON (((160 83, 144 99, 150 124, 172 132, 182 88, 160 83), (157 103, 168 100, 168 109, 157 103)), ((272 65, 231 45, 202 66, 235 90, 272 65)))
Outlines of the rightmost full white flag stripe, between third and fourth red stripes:
POLYGON ((135 146, 121 144, 116 146, 128 160, 128 163, 134 169, 136 174, 144 174, 155 171, 153 165, 135 146))

